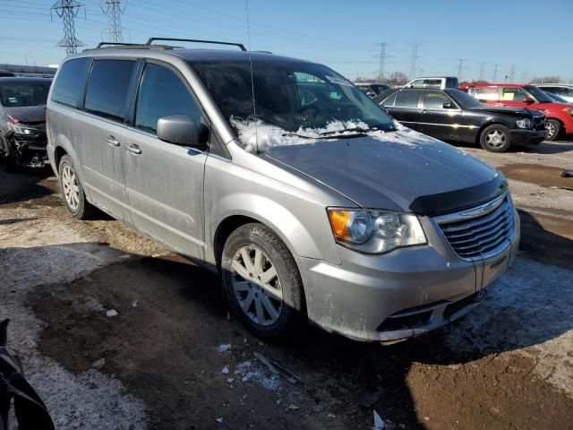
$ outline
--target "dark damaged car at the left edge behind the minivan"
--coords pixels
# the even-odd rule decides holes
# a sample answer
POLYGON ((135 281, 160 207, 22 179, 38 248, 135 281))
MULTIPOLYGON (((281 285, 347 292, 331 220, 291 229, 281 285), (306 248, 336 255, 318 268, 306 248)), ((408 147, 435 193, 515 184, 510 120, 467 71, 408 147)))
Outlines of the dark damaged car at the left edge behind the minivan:
POLYGON ((0 155, 6 168, 47 163, 46 101, 51 79, 0 78, 0 155))

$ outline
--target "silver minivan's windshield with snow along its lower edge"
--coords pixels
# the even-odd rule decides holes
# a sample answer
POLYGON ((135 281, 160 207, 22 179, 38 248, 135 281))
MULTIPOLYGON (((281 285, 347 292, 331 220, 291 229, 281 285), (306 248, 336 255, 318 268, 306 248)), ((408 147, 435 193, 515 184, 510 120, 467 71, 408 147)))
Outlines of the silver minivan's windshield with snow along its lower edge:
POLYGON ((301 137, 394 129, 381 107, 321 64, 253 58, 252 76, 245 60, 191 65, 237 132, 238 122, 274 125, 301 137))

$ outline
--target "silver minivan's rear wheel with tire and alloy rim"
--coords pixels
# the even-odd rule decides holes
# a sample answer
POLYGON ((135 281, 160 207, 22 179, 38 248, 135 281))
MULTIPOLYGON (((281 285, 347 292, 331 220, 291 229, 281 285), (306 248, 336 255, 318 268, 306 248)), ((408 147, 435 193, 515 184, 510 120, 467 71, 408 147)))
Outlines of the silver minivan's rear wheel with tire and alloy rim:
POLYGON ((73 218, 90 219, 93 215, 94 207, 86 200, 80 177, 76 173, 73 161, 68 155, 64 155, 60 159, 57 171, 60 193, 62 193, 65 209, 73 218))

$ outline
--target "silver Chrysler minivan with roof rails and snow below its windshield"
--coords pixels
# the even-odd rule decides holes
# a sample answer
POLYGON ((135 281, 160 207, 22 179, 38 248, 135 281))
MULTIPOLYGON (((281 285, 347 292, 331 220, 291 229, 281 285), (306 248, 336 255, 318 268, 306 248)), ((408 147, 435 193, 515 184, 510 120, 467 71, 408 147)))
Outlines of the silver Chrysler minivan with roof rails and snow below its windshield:
POLYGON ((97 207, 218 272, 266 339, 307 322, 415 336, 508 270, 519 219, 496 169, 398 125, 324 65, 154 40, 56 74, 47 151, 74 217, 97 207))

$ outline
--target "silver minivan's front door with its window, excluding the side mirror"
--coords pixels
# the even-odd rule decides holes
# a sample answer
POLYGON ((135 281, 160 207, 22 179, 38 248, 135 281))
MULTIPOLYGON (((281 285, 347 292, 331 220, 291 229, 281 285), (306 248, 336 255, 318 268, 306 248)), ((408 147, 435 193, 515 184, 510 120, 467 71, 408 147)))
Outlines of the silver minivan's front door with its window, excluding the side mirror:
POLYGON ((183 77, 171 66, 143 68, 133 127, 125 134, 125 185, 133 224, 178 252, 203 259, 203 171, 201 150, 160 141, 158 119, 188 115, 206 119, 183 77))

